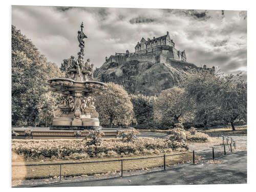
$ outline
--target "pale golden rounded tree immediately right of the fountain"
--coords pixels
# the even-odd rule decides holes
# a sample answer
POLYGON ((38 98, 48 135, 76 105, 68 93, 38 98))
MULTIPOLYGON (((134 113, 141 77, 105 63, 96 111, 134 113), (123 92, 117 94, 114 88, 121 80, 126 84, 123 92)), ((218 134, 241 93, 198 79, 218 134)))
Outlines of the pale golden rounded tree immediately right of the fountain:
POLYGON ((101 124, 110 127, 135 124, 133 104, 127 92, 119 84, 106 84, 108 89, 98 95, 95 102, 101 124))

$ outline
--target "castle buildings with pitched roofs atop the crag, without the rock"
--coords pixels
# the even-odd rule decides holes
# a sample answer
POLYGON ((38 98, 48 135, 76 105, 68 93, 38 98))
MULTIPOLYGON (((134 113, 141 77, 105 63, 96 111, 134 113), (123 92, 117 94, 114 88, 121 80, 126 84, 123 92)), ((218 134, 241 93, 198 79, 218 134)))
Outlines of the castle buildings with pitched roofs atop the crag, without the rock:
POLYGON ((153 39, 143 37, 135 46, 135 53, 153 53, 155 55, 163 54, 168 58, 185 61, 187 60, 185 50, 178 51, 175 49, 175 42, 170 39, 169 32, 161 37, 153 37, 153 39))

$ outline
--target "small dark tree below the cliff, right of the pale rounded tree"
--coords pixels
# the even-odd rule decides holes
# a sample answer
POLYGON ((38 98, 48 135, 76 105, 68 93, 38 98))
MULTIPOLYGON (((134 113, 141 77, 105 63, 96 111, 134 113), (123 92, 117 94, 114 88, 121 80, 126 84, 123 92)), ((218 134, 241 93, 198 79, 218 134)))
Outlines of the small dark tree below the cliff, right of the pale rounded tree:
POLYGON ((130 95, 133 111, 138 125, 147 125, 154 121, 154 102, 156 97, 145 95, 130 95))

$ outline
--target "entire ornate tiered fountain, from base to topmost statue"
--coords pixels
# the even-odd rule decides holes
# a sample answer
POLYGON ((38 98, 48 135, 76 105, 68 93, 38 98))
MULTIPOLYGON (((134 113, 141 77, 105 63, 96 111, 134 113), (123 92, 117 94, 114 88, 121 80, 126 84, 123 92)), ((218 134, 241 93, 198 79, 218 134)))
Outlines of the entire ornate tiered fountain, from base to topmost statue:
POLYGON ((90 59, 84 63, 84 38, 87 36, 83 33, 82 23, 77 37, 80 47, 78 58, 71 56, 63 60, 66 78, 48 80, 52 90, 63 95, 58 110, 53 112, 54 118, 50 130, 101 130, 93 96, 100 94, 108 86, 94 81, 94 66, 90 63, 90 59))

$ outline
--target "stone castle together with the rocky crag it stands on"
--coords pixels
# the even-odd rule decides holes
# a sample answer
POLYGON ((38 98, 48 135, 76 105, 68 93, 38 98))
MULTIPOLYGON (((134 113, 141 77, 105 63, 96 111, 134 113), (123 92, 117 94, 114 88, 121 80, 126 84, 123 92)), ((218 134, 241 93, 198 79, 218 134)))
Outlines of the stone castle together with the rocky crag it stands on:
POLYGON ((175 49, 175 42, 166 35, 145 40, 135 46, 135 52, 115 53, 105 57, 94 77, 101 82, 114 82, 131 94, 159 95, 162 90, 178 86, 191 71, 215 68, 197 67, 187 62, 185 51, 175 49))

